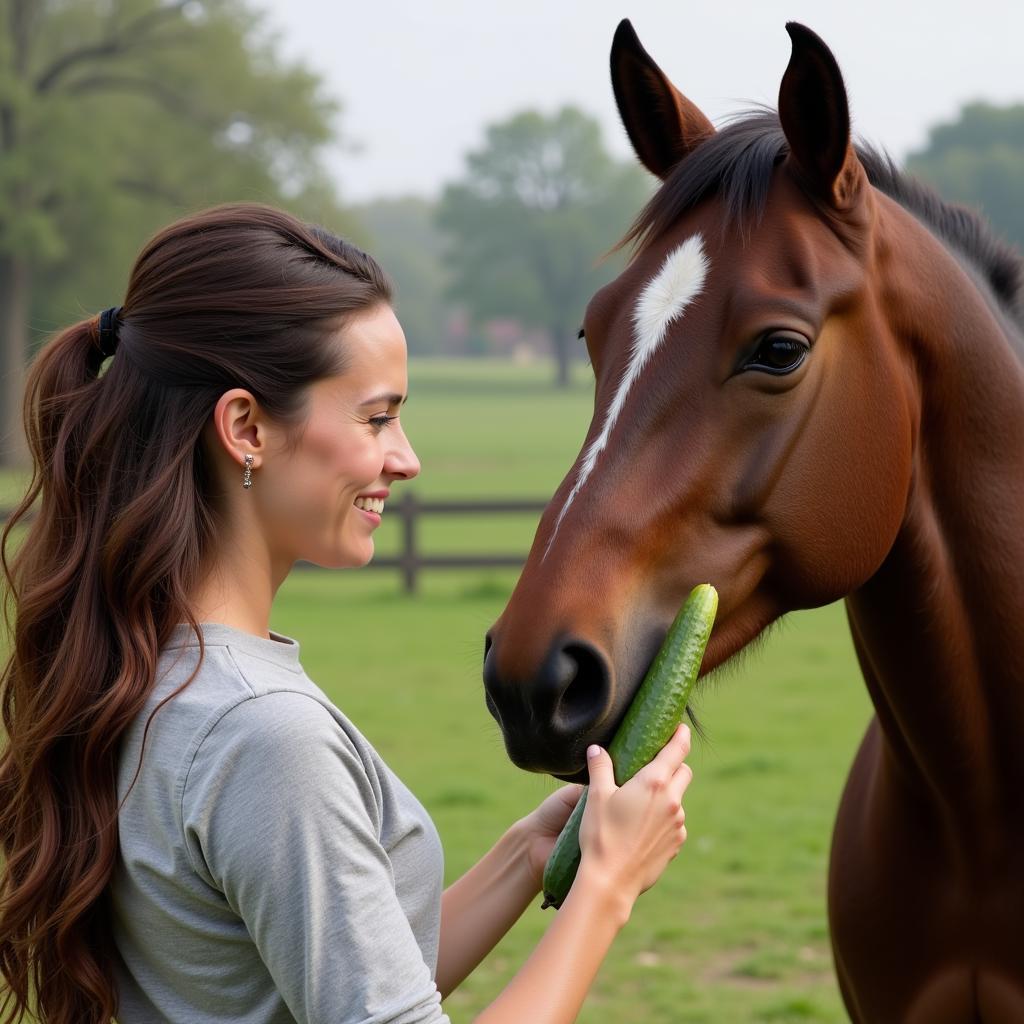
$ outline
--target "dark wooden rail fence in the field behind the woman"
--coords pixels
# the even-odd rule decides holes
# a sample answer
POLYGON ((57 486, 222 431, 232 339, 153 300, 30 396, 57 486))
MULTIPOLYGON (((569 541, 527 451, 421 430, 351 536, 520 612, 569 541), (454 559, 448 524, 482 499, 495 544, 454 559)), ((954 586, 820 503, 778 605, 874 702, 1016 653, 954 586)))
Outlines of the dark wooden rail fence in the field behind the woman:
MULTIPOLYGON (((371 569, 400 569, 402 586, 407 593, 415 594, 417 579, 423 569, 464 568, 519 568, 526 561, 525 554, 424 554, 420 550, 419 523, 423 516, 438 515, 540 515, 547 502, 537 499, 508 499, 495 501, 421 501, 415 493, 407 490, 402 497, 389 504, 390 515, 401 519, 401 544, 398 554, 375 556, 367 565, 371 569)), ((0 511, 0 520, 6 521, 13 509, 0 511)), ((23 522, 31 522, 35 512, 30 511, 23 522)), ((322 566, 300 559, 298 569, 319 569, 322 566)))

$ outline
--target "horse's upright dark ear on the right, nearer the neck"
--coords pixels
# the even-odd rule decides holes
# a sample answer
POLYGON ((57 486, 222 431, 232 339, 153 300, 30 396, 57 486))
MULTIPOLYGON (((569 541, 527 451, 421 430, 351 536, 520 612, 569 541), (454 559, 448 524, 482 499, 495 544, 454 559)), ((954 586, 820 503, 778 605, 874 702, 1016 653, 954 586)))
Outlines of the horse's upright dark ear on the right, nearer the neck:
POLYGON ((849 207, 862 179, 850 144, 846 86, 831 50, 810 29, 787 22, 790 66, 778 92, 778 116, 790 160, 807 188, 840 209, 849 207))

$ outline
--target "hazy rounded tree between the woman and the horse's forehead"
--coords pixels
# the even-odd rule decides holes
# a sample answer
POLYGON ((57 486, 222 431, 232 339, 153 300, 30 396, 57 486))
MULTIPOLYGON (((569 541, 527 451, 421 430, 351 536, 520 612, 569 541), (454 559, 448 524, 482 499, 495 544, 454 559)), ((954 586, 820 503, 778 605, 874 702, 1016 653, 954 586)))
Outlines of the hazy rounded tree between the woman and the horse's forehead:
POLYGON ((489 126, 438 210, 452 243, 453 295, 478 318, 515 316, 547 330, 565 386, 586 303, 616 266, 599 264, 600 256, 625 233, 652 180, 612 160, 597 121, 577 108, 489 126))

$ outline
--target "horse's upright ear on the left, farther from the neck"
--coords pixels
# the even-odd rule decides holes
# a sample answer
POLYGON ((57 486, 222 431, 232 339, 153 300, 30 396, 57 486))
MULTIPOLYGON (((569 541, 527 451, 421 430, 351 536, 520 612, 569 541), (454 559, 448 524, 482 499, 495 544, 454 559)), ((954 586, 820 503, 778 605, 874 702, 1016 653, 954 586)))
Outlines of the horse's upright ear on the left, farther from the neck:
POLYGON ((665 178, 715 126, 666 77, 640 45, 629 18, 611 41, 611 87, 640 163, 665 178))

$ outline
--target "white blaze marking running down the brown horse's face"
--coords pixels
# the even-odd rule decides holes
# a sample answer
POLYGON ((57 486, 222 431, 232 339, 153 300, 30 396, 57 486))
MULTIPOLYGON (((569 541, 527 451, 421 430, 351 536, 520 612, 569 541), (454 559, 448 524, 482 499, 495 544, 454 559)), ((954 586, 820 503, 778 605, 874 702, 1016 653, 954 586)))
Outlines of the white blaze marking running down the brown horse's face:
MULTIPOLYGON (((548 557, 548 552, 554 543, 558 527, 562 524, 562 519, 565 518, 565 513, 568 512, 575 496, 580 494, 588 477, 594 471, 597 457, 607 445, 611 428, 615 425, 615 421, 626 404, 627 395, 639 379, 644 367, 650 361, 657 346, 665 339, 669 325, 674 319, 678 319, 686 306, 700 294, 705 278, 708 275, 708 257, 703 252, 703 240, 699 233, 691 234, 682 245, 673 249, 666 256, 660 270, 647 282, 637 298, 636 309, 633 311, 633 348, 630 351, 629 365, 623 374, 623 379, 618 382, 611 404, 608 406, 601 433, 584 454, 583 462, 580 465, 580 475, 558 514, 555 528, 551 531, 551 540, 548 541, 544 552, 544 558, 548 557)), ((544 558, 541 560, 543 561, 544 558)))

